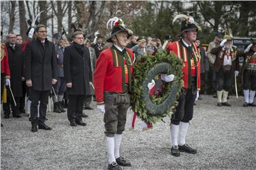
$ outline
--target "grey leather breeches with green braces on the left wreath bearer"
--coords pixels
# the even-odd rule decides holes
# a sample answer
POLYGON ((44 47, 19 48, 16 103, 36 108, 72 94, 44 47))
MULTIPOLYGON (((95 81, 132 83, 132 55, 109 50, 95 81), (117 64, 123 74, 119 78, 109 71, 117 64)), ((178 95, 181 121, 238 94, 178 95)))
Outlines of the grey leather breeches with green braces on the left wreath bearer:
POLYGON ((105 133, 107 137, 122 134, 125 131, 127 109, 130 107, 131 68, 133 60, 128 50, 120 52, 114 46, 111 48, 113 67, 121 67, 123 92, 104 92, 106 113, 104 114, 105 133), (125 84, 125 74, 128 74, 129 84, 125 84))

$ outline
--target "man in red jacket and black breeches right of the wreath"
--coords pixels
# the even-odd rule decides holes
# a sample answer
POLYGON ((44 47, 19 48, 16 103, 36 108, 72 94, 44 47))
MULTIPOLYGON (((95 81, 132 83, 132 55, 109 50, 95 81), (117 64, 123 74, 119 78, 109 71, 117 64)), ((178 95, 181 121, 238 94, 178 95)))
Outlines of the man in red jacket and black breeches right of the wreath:
POLYGON ((187 17, 181 24, 181 31, 178 35, 181 39, 167 46, 167 52, 174 52, 176 56, 182 58, 184 81, 176 112, 171 119, 170 135, 173 156, 180 156, 180 152, 197 153, 196 149, 191 148, 185 142, 189 121, 193 117, 193 103, 195 97, 198 98, 200 88, 200 54, 194 43, 197 30, 198 27, 193 18, 187 17))

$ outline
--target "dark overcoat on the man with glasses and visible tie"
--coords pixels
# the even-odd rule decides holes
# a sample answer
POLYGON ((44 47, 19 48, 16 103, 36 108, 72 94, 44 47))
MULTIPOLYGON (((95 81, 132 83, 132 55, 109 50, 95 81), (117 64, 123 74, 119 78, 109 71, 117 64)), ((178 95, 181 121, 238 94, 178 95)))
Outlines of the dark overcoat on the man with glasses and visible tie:
POLYGON ((39 39, 35 39, 27 44, 25 58, 26 80, 32 80, 33 90, 50 90, 52 78, 57 79, 54 44, 46 39, 43 46, 39 39))

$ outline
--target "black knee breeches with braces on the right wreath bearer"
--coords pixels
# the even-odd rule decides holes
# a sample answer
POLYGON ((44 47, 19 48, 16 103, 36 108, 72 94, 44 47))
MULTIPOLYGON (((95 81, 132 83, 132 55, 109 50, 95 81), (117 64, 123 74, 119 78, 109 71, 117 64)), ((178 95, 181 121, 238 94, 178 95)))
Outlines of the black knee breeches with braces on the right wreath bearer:
POLYGON ((197 65, 199 64, 199 54, 197 53, 195 44, 186 47, 182 41, 177 41, 178 57, 182 58, 183 65, 188 66, 188 88, 182 88, 176 112, 172 115, 171 123, 180 124, 180 122, 189 122, 193 118, 193 104, 197 93, 197 65), (191 49, 191 50, 190 50, 191 49), (195 75, 191 75, 191 58, 195 64, 195 75))

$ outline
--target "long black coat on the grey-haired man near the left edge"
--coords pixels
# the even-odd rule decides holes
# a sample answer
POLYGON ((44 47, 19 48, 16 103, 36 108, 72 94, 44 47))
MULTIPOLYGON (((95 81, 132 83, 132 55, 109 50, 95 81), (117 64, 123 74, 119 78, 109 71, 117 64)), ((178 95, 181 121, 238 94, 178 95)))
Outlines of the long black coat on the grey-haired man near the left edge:
POLYGON ((25 77, 24 67, 24 52, 22 46, 16 44, 15 48, 12 49, 10 44, 5 44, 8 52, 8 61, 11 73, 11 88, 14 97, 22 97, 22 77, 25 77))

